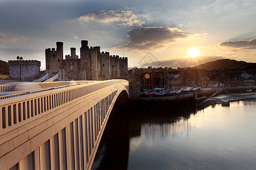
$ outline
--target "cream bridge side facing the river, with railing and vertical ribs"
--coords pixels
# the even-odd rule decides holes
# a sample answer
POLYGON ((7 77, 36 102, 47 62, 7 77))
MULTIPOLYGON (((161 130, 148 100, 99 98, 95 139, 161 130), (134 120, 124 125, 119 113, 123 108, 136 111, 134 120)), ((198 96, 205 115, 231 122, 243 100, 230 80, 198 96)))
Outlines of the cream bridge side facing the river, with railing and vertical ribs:
POLYGON ((122 91, 129 94, 128 86, 107 80, 0 100, 0 169, 30 169, 31 162, 90 168, 114 102, 122 91))

